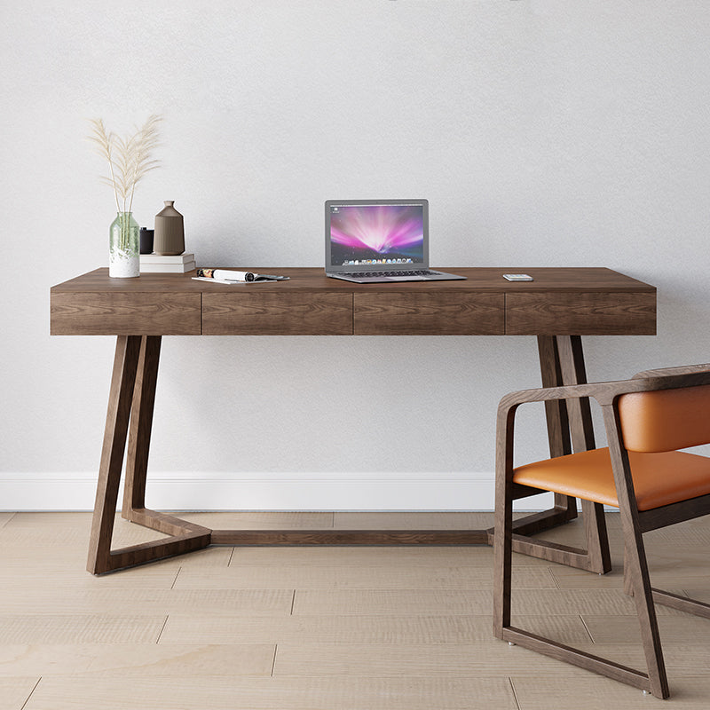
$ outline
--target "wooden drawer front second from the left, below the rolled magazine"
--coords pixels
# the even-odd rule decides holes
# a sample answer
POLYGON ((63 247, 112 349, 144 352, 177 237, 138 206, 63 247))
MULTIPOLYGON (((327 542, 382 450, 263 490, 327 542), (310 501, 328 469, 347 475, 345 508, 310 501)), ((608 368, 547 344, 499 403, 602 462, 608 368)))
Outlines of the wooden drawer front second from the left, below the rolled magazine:
POLYGON ((352 296, 205 293, 202 335, 352 335, 352 296))

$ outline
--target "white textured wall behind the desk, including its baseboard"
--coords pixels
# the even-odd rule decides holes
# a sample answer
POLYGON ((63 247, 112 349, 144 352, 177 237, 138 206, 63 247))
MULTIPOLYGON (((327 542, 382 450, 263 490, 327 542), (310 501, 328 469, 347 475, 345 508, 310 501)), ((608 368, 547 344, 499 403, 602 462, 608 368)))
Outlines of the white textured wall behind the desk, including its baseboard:
MULTIPOLYGON (((609 266, 656 337, 587 338, 590 379, 708 358, 710 4, 3 4, 0 509, 87 509, 114 342, 50 337, 49 288, 107 264, 87 118, 161 113, 149 225, 200 264, 322 264, 322 205, 427 197, 432 263, 609 266)), ((163 339, 157 508, 486 509, 525 337, 163 339), (414 388, 413 388, 414 385, 414 388)), ((521 460, 546 452, 541 411, 521 460)))

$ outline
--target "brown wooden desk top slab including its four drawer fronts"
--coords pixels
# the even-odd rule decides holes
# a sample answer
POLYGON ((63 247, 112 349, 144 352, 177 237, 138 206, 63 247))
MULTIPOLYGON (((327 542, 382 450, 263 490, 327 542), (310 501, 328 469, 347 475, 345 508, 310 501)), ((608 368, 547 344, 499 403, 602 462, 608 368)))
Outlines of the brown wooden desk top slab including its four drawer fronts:
POLYGON ((52 335, 654 335, 656 288, 604 268, 446 268, 466 280, 357 284, 319 268, 236 285, 188 273, 51 288, 52 335), (533 281, 510 282, 525 272, 533 281))

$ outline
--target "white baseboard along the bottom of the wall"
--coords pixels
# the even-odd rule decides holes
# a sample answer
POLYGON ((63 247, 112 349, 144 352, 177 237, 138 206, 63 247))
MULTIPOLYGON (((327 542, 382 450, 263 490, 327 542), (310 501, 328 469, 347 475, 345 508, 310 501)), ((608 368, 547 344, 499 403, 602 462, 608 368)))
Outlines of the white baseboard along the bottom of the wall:
MULTIPOLYGON (((91 510, 96 474, 0 474, 1 510, 91 510)), ((551 505, 551 495, 519 501, 551 505)), ((146 504, 157 510, 493 510, 491 472, 151 472, 146 504)), ((121 494, 119 495, 119 507, 121 494)))

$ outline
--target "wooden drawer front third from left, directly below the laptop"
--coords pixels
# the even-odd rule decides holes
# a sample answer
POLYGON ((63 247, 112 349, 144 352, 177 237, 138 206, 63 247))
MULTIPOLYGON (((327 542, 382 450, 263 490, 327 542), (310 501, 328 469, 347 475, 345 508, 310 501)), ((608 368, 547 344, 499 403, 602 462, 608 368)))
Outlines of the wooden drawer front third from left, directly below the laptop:
POLYGON ((503 335, 502 294, 355 294, 355 335, 503 335))

